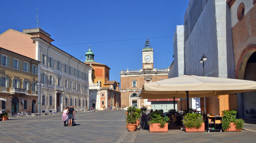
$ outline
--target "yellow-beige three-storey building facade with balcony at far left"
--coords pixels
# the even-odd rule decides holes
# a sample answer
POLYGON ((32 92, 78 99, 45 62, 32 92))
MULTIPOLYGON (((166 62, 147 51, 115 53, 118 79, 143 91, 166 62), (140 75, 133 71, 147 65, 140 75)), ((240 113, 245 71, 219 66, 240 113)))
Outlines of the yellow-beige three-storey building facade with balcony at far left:
POLYGON ((0 48, 0 107, 6 112, 37 112, 37 60, 0 48))

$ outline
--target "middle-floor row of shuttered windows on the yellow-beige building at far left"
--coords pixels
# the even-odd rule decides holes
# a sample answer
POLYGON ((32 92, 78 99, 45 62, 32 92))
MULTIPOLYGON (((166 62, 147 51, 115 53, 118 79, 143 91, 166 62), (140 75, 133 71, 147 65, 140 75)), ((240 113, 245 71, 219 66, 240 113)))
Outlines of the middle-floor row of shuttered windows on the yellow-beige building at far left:
MULTIPOLYGON (((10 78, 7 76, 1 76, 0 78, 0 86, 4 86, 5 88, 9 88, 9 80, 10 78)), ((30 85, 29 85, 29 80, 22 80, 22 86, 20 86, 20 79, 12 79, 11 80, 12 84, 11 87, 12 88, 22 88, 22 89, 26 89, 29 91, 30 85)), ((32 91, 37 91, 37 83, 36 82, 32 82, 31 84, 31 88, 32 91)))

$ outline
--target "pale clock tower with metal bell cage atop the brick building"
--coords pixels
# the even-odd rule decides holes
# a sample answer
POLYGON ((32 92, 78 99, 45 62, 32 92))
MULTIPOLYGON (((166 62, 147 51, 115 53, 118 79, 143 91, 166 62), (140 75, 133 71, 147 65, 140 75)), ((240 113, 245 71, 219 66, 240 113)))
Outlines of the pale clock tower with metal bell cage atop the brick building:
POLYGON ((142 49, 142 66, 144 69, 153 69, 153 49, 151 48, 149 39, 146 40, 142 49))

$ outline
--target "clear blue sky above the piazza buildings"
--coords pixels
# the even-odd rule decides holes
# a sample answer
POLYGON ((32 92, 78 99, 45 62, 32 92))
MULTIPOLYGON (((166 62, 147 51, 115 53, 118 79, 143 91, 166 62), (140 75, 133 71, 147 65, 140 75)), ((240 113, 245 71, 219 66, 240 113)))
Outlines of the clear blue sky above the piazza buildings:
MULTIPOLYGON (((95 61, 110 67, 110 80, 121 70, 142 69, 144 42, 154 50, 154 67, 173 61, 173 34, 183 24, 189 0, 1 1, 0 33, 40 27, 53 45, 85 61, 91 43, 95 61)), ((4 48, 4 47, 3 47, 4 48)))

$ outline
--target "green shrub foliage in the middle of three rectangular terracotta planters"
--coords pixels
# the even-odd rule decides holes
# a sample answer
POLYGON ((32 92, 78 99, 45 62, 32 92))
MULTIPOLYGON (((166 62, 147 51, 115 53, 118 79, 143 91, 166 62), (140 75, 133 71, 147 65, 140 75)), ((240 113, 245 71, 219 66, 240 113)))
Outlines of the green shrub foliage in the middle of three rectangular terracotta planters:
POLYGON ((187 128, 200 128, 203 121, 203 116, 198 113, 187 113, 184 119, 182 120, 183 124, 187 128))

